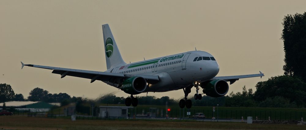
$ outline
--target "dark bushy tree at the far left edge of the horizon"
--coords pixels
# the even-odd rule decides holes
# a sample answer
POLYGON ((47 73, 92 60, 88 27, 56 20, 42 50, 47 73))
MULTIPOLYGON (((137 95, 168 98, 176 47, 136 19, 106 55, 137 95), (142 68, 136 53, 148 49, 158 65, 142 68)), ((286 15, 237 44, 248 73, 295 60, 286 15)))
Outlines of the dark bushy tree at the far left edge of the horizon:
POLYGON ((12 100, 15 97, 14 90, 9 84, 0 83, 0 103, 12 100))

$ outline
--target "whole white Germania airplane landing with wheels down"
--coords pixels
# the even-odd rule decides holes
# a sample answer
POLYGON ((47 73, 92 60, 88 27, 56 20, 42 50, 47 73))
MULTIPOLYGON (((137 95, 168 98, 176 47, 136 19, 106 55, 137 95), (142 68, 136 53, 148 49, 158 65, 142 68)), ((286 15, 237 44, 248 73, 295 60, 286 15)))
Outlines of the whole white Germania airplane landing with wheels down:
POLYGON ((196 88, 194 99, 201 100, 200 87, 203 93, 210 97, 222 97, 229 90, 229 85, 241 78, 262 77, 264 74, 218 76, 219 65, 213 55, 205 51, 188 51, 159 58, 126 64, 119 52, 118 46, 108 24, 102 25, 105 47, 105 72, 67 69, 51 66, 24 64, 24 66, 51 69, 52 73, 91 79, 90 83, 100 80, 114 86, 130 97, 125 99, 125 105, 136 107, 138 99, 133 95, 148 92, 167 92, 183 89, 185 97, 179 102, 179 107, 191 108, 192 101, 187 99, 191 88, 196 88))

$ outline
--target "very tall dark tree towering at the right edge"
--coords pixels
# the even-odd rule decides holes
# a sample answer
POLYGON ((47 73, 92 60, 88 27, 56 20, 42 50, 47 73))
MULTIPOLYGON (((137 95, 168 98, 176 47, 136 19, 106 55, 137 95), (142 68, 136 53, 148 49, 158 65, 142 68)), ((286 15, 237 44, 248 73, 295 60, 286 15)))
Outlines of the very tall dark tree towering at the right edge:
POLYGON ((285 75, 298 76, 306 81, 306 12, 287 15, 283 19, 284 29, 281 39, 284 41, 285 75))

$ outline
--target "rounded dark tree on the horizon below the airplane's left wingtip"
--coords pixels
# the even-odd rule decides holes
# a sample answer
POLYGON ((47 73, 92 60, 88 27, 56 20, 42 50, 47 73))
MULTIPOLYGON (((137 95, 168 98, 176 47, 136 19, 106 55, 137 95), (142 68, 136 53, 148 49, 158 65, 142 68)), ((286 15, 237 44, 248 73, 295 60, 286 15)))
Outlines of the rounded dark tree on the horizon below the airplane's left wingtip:
POLYGON ((31 92, 29 94, 30 94, 30 96, 28 97, 28 100, 30 100, 30 101, 43 101, 43 100, 45 100, 45 98, 47 97, 49 92, 47 90, 43 90, 43 89, 37 87, 37 88, 31 90, 31 92))

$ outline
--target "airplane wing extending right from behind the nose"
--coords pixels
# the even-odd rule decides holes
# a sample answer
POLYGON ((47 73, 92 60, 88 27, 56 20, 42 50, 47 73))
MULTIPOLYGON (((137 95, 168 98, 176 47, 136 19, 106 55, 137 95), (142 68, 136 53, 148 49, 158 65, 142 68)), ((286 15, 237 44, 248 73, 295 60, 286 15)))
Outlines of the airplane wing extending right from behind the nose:
POLYGON ((215 79, 223 79, 226 82, 230 82, 230 84, 235 83, 237 80, 242 79, 242 78, 252 78, 252 77, 262 77, 265 76, 262 72, 259 71, 259 74, 252 74, 252 75, 240 75, 240 76, 219 76, 219 77, 214 77, 212 80, 215 79))

